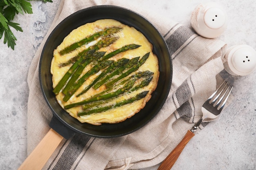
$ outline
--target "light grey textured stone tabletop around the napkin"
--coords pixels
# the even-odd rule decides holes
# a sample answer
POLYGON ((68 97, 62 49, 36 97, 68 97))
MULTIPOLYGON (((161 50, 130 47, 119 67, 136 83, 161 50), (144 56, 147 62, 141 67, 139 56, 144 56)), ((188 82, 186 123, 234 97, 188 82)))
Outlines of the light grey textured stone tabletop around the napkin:
MULTIPOLYGON (((15 170, 27 157, 27 74, 30 62, 43 40, 60 0, 44 4, 31 1, 33 14, 17 15, 23 33, 14 31, 15 51, 0 40, 0 169, 15 170)), ((107 3, 108 1, 103 1, 107 3)), ((190 26, 190 15, 200 0, 132 0, 150 12, 190 26), (150 1, 150 2, 149 2, 150 1)), ((216 0, 227 10, 228 26, 219 37, 228 46, 248 44, 256 49, 256 4, 254 0, 216 0)), ((173 166, 174 170, 254 170, 256 169, 256 71, 247 76, 222 77, 234 84, 234 102, 223 110, 187 144, 173 166)), ((156 170, 158 166, 144 170, 156 170)))

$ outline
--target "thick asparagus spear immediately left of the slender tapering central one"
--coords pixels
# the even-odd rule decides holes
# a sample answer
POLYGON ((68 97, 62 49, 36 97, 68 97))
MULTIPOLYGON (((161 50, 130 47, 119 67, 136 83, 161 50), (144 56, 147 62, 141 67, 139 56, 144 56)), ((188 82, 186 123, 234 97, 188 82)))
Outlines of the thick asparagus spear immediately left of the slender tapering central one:
POLYGON ((73 84, 69 91, 67 92, 67 94, 65 95, 65 97, 63 98, 64 102, 67 102, 68 99, 70 99, 70 97, 72 95, 74 95, 74 93, 76 92, 76 90, 82 86, 82 84, 93 74, 99 72, 101 69, 106 68, 107 66, 109 66, 113 61, 112 60, 106 60, 104 62, 101 62, 100 64, 96 64, 95 66, 92 67, 92 69, 90 69, 87 73, 85 73, 78 81, 76 84, 73 84))

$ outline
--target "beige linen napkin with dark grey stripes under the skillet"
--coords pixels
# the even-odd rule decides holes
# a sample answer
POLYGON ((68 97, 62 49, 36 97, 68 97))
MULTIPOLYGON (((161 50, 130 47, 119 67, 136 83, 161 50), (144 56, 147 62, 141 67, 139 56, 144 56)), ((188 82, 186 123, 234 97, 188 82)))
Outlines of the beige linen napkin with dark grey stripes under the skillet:
POLYGON ((224 42, 202 38, 170 18, 158 16, 157 11, 147 13, 127 1, 63 0, 29 68, 28 154, 48 132, 52 118, 38 78, 38 61, 45 40, 68 15, 102 4, 132 9, 159 29, 168 44, 173 61, 171 90, 162 109, 143 128, 114 139, 100 139, 83 134, 76 134, 69 140, 64 139, 46 163, 45 170, 126 170, 160 163, 177 146, 187 130, 202 117, 201 106, 218 84, 216 75, 223 69, 224 42))

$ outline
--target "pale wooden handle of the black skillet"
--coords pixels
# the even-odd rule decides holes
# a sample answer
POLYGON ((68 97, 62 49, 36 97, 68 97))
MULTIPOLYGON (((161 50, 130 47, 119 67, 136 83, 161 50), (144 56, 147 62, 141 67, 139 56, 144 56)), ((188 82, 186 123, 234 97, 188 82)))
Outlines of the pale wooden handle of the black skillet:
POLYGON ((18 170, 41 170, 62 139, 63 137, 51 128, 18 170))

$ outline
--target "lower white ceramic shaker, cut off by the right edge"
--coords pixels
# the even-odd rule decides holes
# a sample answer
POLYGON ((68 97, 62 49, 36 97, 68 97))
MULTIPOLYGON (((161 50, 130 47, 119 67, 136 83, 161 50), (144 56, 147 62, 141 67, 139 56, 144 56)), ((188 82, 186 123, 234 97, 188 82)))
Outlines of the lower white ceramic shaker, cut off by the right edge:
POLYGON ((256 68, 256 51, 245 44, 230 47, 224 58, 224 68, 231 75, 248 75, 256 68))

